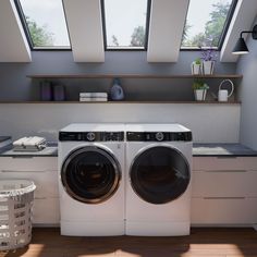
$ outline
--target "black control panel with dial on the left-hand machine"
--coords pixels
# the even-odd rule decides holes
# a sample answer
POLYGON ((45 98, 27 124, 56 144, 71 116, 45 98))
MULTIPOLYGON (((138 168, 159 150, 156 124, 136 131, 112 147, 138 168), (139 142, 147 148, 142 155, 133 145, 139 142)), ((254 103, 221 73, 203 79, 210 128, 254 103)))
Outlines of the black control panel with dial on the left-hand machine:
POLYGON ((60 142, 122 142, 124 132, 59 132, 60 142))

